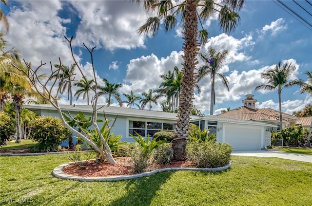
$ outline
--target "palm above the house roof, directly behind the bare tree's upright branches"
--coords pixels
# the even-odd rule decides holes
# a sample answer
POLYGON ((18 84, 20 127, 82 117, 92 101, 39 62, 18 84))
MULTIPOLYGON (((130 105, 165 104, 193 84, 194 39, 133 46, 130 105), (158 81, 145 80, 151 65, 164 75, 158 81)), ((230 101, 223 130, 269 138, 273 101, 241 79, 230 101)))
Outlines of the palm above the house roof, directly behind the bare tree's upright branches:
POLYGON ((55 68, 60 70, 60 73, 53 75, 54 78, 59 78, 59 87, 60 87, 60 94, 64 94, 67 89, 67 99, 70 101, 70 105, 73 104, 73 90, 72 90, 72 81, 74 81, 75 77, 73 77, 75 73, 76 63, 72 65, 65 66, 62 63, 55 64, 55 68))

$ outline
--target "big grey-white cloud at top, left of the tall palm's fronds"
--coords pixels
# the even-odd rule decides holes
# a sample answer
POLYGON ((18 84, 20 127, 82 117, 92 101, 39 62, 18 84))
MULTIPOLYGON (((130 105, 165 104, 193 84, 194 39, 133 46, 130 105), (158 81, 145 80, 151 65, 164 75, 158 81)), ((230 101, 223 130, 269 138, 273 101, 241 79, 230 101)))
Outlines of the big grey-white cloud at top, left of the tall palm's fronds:
POLYGON ((144 9, 131 1, 71 1, 81 19, 77 44, 132 49, 144 47, 143 35, 137 29, 145 23, 144 9))

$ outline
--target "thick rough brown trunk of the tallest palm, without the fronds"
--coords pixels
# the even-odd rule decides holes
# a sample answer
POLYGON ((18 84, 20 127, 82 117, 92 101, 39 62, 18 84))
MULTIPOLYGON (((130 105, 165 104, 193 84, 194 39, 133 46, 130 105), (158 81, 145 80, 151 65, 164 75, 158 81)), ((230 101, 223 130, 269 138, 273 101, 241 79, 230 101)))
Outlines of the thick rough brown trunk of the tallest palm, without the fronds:
POLYGON ((189 136, 190 116, 195 86, 195 66, 198 63, 196 56, 198 54, 197 43, 197 13, 195 0, 187 0, 184 19, 184 43, 183 43, 183 80, 181 83, 181 96, 178 119, 176 122, 175 138, 172 142, 174 150, 174 159, 185 160, 186 141, 189 136))

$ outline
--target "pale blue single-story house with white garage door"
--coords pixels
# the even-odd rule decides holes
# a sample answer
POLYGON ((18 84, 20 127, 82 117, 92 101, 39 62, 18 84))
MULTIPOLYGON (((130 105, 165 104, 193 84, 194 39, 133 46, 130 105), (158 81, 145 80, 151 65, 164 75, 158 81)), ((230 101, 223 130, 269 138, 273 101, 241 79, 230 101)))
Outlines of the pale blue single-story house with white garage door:
MULTIPOLYGON (((41 116, 59 117, 57 110, 49 104, 24 105, 24 107, 41 116)), ((92 114, 92 106, 87 105, 60 105, 60 108, 65 113, 70 112, 72 116, 78 112, 83 112, 86 117, 92 114)), ((173 131, 176 128, 177 113, 103 106, 98 110, 98 119, 103 120, 103 111, 108 120, 117 116, 112 132, 116 135, 121 134, 121 141, 134 141, 129 135, 135 134, 134 131, 146 137, 152 136, 157 131, 173 131)), ((229 143, 234 150, 260 150, 271 145, 270 132, 266 131, 274 125, 215 115, 192 116, 191 122, 201 129, 209 129, 210 133, 216 133, 217 141, 229 143)))

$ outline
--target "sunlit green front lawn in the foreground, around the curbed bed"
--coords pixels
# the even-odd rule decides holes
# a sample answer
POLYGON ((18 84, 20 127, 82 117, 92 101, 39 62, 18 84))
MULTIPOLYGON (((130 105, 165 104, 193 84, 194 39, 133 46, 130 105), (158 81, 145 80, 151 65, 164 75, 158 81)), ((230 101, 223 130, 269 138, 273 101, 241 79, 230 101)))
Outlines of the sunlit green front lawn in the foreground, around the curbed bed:
POLYGON ((119 182, 79 182, 51 174, 66 162, 66 154, 0 156, 1 205, 24 205, 17 204, 19 198, 33 206, 312 205, 311 163, 232 156, 231 169, 222 172, 171 171, 119 182))

